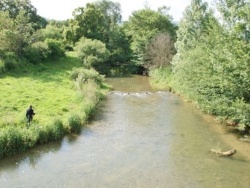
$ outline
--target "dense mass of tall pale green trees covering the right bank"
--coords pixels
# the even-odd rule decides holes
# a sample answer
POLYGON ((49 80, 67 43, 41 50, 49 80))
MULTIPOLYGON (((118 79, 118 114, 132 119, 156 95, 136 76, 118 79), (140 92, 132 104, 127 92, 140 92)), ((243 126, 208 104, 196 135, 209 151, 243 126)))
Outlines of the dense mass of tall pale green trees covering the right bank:
POLYGON ((152 72, 204 112, 250 128, 250 2, 192 0, 179 23, 171 67, 152 72))

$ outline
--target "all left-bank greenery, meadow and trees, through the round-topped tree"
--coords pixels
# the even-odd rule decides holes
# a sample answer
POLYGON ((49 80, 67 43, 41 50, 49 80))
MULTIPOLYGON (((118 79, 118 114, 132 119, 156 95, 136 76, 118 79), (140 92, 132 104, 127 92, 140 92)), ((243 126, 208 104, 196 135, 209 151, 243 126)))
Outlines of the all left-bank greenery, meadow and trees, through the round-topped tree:
POLYGON ((0 158, 80 132, 108 89, 102 75, 140 72, 147 43, 175 36, 166 12, 145 8, 123 24, 120 4, 102 0, 56 21, 28 0, 0 1, 0 158))

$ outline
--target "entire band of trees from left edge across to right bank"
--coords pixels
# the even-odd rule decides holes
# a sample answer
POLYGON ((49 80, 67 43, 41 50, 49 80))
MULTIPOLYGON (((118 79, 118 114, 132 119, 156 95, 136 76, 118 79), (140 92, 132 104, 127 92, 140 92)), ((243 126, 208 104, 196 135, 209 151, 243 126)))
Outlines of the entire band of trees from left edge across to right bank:
POLYGON ((29 0, 0 2, 0 71, 74 50, 99 73, 150 74, 222 121, 250 128, 250 2, 192 0, 176 26, 168 7, 145 7, 122 22, 119 3, 78 7, 66 21, 46 20, 29 0), (213 9, 212 9, 213 8, 213 9))

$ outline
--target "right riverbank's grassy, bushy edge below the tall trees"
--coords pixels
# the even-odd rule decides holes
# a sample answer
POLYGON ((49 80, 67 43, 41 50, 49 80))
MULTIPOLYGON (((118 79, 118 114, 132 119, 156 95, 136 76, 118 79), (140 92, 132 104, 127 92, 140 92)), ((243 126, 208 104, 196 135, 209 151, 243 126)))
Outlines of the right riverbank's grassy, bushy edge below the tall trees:
POLYGON ((206 96, 201 96, 190 89, 183 89, 183 86, 174 80, 170 67, 155 69, 150 72, 150 76, 152 87, 174 92, 184 100, 194 104, 204 115, 211 116, 216 123, 233 130, 236 136, 248 137, 249 140, 249 118, 247 115, 250 109, 249 103, 244 100, 230 101, 231 105, 224 102, 216 103, 216 101, 210 101, 209 103, 207 99, 203 100, 206 96))

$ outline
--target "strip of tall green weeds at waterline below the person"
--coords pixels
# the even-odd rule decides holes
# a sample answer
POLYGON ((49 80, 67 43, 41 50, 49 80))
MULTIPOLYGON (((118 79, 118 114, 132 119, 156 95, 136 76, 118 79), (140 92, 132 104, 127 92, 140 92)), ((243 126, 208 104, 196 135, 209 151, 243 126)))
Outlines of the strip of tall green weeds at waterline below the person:
POLYGON ((69 124, 63 125, 61 120, 54 120, 48 125, 32 124, 30 128, 8 126, 0 132, 0 158, 23 152, 37 144, 45 144, 62 139, 66 133, 81 130, 80 118, 69 118, 69 124))

